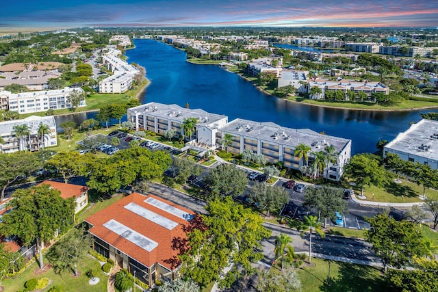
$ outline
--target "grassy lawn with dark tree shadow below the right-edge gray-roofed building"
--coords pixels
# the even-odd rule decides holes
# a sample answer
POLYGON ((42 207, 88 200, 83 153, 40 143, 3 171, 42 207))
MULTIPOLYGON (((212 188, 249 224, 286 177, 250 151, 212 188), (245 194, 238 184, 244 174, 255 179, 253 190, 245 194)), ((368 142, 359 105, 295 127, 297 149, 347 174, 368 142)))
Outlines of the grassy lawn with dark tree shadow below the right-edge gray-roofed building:
MULTIPOLYGON (((356 189, 355 193, 360 194, 360 189, 356 189)), ((367 200, 374 202, 422 202, 419 196, 423 195, 423 187, 409 181, 391 182, 387 187, 365 186, 363 194, 367 200)), ((426 189, 426 197, 438 200, 438 191, 426 189)))

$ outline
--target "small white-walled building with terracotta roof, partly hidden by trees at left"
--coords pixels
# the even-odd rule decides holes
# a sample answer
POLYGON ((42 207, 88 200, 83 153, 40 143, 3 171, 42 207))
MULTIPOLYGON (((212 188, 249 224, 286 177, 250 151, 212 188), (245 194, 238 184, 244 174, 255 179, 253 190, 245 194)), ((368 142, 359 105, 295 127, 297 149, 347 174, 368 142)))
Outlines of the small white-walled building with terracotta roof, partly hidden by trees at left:
POLYGON ((85 208, 88 204, 88 187, 83 185, 70 185, 70 183, 59 183, 57 181, 43 181, 40 185, 50 185, 53 189, 61 191, 61 198, 68 199, 75 197, 75 214, 85 208))

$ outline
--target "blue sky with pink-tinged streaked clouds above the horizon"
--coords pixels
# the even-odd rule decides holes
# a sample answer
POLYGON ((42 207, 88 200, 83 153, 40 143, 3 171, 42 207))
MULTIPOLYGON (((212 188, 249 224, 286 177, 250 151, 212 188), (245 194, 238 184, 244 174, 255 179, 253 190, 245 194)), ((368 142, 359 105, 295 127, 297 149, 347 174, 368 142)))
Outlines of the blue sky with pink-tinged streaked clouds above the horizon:
POLYGON ((0 27, 438 27, 437 0, 3 0, 0 27))

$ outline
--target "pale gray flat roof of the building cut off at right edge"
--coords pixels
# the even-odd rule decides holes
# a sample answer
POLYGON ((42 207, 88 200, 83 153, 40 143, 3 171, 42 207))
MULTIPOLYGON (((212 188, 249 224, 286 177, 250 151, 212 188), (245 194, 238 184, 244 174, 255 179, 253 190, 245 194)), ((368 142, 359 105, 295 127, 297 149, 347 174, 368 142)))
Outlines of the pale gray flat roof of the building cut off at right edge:
POLYGON ((423 119, 412 124, 385 148, 438 160, 438 121, 423 119))

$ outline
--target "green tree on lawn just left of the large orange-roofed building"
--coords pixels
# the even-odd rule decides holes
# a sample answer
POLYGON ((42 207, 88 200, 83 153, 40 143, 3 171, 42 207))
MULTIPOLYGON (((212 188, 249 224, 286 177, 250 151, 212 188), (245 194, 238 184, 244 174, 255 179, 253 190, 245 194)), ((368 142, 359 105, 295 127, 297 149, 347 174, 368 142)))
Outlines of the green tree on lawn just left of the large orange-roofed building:
POLYGON ((77 274, 77 264, 92 246, 92 236, 84 228, 73 228, 47 253, 55 271, 70 271, 77 274))

